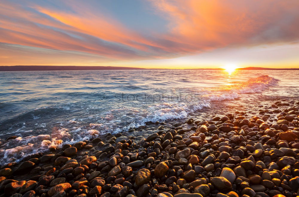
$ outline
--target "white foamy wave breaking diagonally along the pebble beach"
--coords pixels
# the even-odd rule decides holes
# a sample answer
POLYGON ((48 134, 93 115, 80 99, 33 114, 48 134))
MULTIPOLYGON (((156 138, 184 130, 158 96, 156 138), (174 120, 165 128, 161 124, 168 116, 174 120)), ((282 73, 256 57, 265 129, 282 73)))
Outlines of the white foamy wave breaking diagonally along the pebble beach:
MULTIPOLYGON (((44 152, 50 147, 62 147, 63 144, 74 144, 81 140, 89 140, 99 136, 100 134, 108 132, 119 133, 127 131, 131 128, 138 128, 140 126, 144 126, 147 122, 161 122, 187 118, 190 113, 197 112, 204 108, 209 108, 212 102, 234 100, 242 96, 242 94, 261 93, 270 86, 276 85, 277 81, 277 79, 263 75, 240 84, 235 84, 228 87, 219 87, 217 89, 218 91, 215 91, 215 93, 201 96, 200 98, 196 98, 196 100, 176 101, 173 103, 167 101, 165 103, 160 103, 149 107, 146 111, 144 110, 142 112, 132 110, 132 114, 124 114, 119 119, 113 119, 113 114, 111 111, 108 111, 107 117, 98 116, 105 120, 104 123, 91 123, 89 124, 89 128, 86 128, 86 126, 74 127, 74 125, 78 124, 75 119, 59 122, 61 123, 61 127, 71 125, 73 128, 60 128, 58 130, 53 130, 51 131, 52 133, 50 135, 28 136, 24 138, 18 137, 14 140, 11 140, 7 143, 14 143, 16 147, 7 150, 0 150, 0 155, 4 155, 4 158, 2 161, 0 161, 0 163, 4 164, 11 161, 19 161, 26 155, 44 152), (115 124, 125 122, 123 120, 129 122, 129 124, 123 127, 115 124)), ((78 120, 83 121, 85 119, 92 118, 94 118, 94 116, 89 116, 87 118, 78 120)), ((15 131, 15 133, 26 132, 22 130, 25 128, 25 123, 23 125, 24 126, 15 131)), ((45 123, 42 123, 39 126, 45 127, 45 123)), ((28 130, 27 132, 31 132, 31 130, 28 130)))

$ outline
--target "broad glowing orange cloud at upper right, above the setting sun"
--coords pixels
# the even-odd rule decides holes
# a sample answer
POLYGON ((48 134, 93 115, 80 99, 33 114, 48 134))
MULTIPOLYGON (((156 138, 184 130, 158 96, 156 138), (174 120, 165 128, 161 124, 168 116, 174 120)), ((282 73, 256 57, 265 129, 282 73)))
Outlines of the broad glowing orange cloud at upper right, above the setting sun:
POLYGON ((153 0, 173 41, 197 50, 298 40, 299 1, 153 0))

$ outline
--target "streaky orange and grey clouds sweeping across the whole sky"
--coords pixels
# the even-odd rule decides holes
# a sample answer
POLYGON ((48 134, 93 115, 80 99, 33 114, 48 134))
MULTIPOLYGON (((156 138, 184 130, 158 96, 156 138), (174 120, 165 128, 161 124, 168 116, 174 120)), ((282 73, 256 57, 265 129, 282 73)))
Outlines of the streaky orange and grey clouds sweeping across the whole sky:
MULTIPOLYGON (((152 15, 168 21, 163 33, 126 27, 114 14, 118 10, 103 12, 105 7, 95 2, 1 1, 0 42, 35 47, 31 50, 57 50, 68 57, 71 51, 92 54, 97 57, 94 61, 115 62, 167 59, 222 47, 294 44, 299 40, 297 0, 144 2, 151 6, 152 15)), ((132 9, 138 8, 132 4, 132 9)), ((46 52, 39 53, 40 58, 43 54, 46 52)))

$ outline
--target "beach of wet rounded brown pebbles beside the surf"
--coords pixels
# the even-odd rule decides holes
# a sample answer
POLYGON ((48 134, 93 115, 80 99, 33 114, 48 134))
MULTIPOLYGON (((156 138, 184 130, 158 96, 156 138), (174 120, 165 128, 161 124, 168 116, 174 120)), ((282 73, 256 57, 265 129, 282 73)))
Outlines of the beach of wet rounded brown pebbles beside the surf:
POLYGON ((282 99, 257 117, 231 112, 161 125, 141 141, 118 133, 65 144, 2 166, 0 196, 291 197, 299 189, 298 106, 282 99))

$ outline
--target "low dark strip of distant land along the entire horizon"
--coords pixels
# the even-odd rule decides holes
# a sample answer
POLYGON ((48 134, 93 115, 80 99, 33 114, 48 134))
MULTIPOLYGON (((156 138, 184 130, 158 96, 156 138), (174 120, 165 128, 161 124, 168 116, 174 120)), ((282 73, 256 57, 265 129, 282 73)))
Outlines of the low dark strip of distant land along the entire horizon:
MULTIPOLYGON (((0 71, 51 71, 51 70, 170 70, 167 68, 134 68, 116 66, 0 66, 0 71)), ((181 70, 224 70, 223 68, 190 68, 181 70)), ((299 68, 245 67, 237 70, 299 70, 299 68)))

